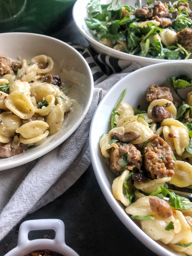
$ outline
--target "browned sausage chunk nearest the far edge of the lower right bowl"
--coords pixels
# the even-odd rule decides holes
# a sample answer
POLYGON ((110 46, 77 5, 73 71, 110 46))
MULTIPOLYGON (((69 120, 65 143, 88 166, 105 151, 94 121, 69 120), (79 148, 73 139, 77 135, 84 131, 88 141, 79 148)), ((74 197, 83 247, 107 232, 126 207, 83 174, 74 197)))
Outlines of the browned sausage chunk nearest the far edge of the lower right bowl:
POLYGON ((170 92, 170 89, 168 87, 160 87, 158 85, 152 84, 148 87, 146 91, 146 100, 148 102, 152 102, 153 100, 158 99, 166 99, 172 101, 172 93, 170 92))

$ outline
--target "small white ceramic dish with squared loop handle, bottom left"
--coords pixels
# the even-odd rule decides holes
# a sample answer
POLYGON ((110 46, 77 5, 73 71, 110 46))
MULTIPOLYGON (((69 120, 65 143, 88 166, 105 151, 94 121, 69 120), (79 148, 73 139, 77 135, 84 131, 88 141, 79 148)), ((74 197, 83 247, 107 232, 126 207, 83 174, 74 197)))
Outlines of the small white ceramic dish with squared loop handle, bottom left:
POLYGON ((25 256, 28 253, 44 251, 45 249, 58 252, 63 256, 79 256, 79 254, 65 244, 65 226, 62 220, 57 219, 24 221, 19 228, 17 246, 6 253, 5 256, 25 256), (42 229, 53 229, 55 231, 55 238, 28 240, 29 231, 42 229))

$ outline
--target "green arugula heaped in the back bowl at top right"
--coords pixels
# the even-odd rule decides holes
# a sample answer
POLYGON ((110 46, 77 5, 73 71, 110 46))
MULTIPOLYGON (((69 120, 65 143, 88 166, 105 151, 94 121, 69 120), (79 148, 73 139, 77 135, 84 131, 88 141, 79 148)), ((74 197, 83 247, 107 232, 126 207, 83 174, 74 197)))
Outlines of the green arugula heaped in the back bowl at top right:
MULTIPOLYGON (((180 2, 188 1, 179 0, 173 4, 166 4, 169 13, 174 12, 180 2)), ((176 39, 173 45, 166 46, 162 42, 164 40, 161 40, 159 36, 164 30, 164 26, 159 27, 161 24, 158 25, 154 20, 150 20, 151 16, 150 18, 135 16, 137 6, 121 5, 119 0, 116 1, 115 5, 112 5, 112 3, 113 1, 110 4, 100 4, 100 0, 91 0, 86 6, 88 17, 85 17, 84 20, 96 40, 106 44, 104 40, 108 39, 109 42, 106 45, 109 47, 113 48, 115 46, 114 49, 142 57, 168 60, 192 57, 192 51, 186 50, 176 39), (141 22, 146 24, 140 25, 141 22)), ((148 4, 150 4, 150 1, 148 1, 148 4)), ((158 2, 146 7, 153 12, 156 4, 158 2)), ((173 17, 170 20, 171 22, 165 26, 165 28, 171 29, 175 35, 184 28, 192 28, 192 20, 189 18, 191 10, 186 6, 182 10, 180 7, 177 7, 177 9, 176 18, 173 17)))

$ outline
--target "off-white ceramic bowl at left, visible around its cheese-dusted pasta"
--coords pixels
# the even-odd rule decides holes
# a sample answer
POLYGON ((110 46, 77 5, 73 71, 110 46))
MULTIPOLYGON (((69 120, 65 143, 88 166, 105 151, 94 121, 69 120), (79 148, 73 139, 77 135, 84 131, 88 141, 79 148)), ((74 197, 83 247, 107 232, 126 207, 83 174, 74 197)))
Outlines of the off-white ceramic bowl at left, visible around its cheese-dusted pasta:
POLYGON ((48 136, 43 144, 12 158, 0 159, 0 170, 28 163, 60 145, 77 129, 90 108, 94 89, 91 69, 73 47, 49 36, 30 33, 0 34, 0 55, 12 59, 20 56, 29 63, 32 57, 40 54, 52 57, 54 68, 51 74, 59 75, 66 86, 72 85, 67 95, 76 100, 73 111, 65 115, 63 128, 48 136))

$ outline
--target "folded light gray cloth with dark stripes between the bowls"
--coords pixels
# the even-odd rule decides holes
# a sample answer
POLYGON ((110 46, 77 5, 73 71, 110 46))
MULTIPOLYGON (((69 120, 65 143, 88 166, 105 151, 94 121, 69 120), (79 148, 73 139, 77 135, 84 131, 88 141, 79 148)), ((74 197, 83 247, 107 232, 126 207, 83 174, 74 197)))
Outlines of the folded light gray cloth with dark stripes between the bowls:
POLYGON ((60 146, 30 163, 0 171, 0 240, 27 213, 60 196, 83 174, 91 163, 89 127, 99 101, 118 80, 140 68, 133 61, 72 46, 92 70, 95 89, 91 107, 80 126, 60 146))

